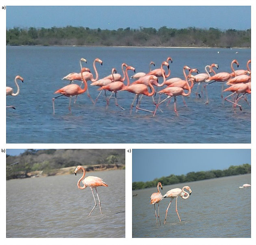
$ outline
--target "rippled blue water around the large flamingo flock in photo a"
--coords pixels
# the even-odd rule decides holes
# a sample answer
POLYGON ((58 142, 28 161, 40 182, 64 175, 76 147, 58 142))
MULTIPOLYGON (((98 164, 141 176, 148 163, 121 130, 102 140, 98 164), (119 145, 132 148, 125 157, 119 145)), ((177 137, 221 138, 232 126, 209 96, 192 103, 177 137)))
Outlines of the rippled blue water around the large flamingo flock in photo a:
MULTIPOLYGON (((16 91, 15 76, 24 78, 24 83, 18 81, 20 94, 7 96, 7 105, 16 108, 7 108, 7 143, 250 143, 250 106, 241 100, 242 111, 236 108, 234 112, 232 104, 222 101, 218 82, 207 86, 209 104, 205 104, 204 93, 202 98, 195 96, 196 85, 190 97, 185 98, 187 107, 182 98, 177 98, 179 117, 174 113, 173 99, 169 106, 162 104, 163 112, 158 110, 155 117, 145 111, 135 112, 135 108, 130 115, 134 94, 127 91, 117 94, 118 103, 125 111, 115 106, 114 96, 106 108, 104 93, 95 105, 84 93, 78 96, 76 104, 72 100, 72 113, 68 110, 69 98, 56 99, 53 115, 54 91, 69 83, 61 78, 80 71, 80 58, 87 59, 86 66, 93 74, 93 60, 100 58, 103 65, 97 63, 96 67, 102 78, 110 74, 113 67, 121 73, 123 62, 135 67, 136 72, 147 72, 150 61, 154 61, 157 68, 168 56, 173 59, 170 77, 183 78, 184 65, 205 72, 205 65, 216 63, 217 72, 231 72, 230 63, 237 59, 239 69, 246 69, 251 50, 7 46, 7 86, 16 91)), ((132 73, 129 71, 128 75, 132 73)), ((80 85, 80 81, 76 82, 80 85)), ((89 93, 95 100, 98 87, 90 84, 88 82, 89 93)), ((107 95, 110 92, 107 91, 107 95)), ((248 101, 250 103, 250 95, 248 101)), ((152 98, 144 96, 141 108, 154 110, 152 98)))

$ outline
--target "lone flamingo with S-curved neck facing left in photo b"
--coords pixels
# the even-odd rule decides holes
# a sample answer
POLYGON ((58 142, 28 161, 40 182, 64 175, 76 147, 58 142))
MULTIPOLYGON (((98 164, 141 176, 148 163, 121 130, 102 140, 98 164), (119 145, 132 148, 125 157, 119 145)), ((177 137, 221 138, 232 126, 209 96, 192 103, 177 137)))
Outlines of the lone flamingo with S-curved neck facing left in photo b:
MULTIPOLYGON (((91 188, 91 192, 93 194, 93 188, 95 189, 96 191, 96 194, 97 194, 97 197, 98 197, 98 200, 99 200, 99 206, 100 206, 100 213, 102 214, 102 211, 101 211, 101 205, 100 205, 100 198, 99 198, 99 195, 98 195, 98 191, 97 191, 97 187, 98 186, 106 186, 108 187, 108 184, 106 184, 101 178, 99 177, 95 177, 95 176, 88 176, 85 178, 85 168, 82 167, 82 166, 77 166, 76 169, 75 169, 75 175, 77 173, 78 170, 81 170, 83 171, 83 174, 82 174, 82 177, 78 180, 77 182, 77 187, 78 189, 85 189, 87 186, 89 186, 91 188), (85 179, 83 179, 85 178, 85 179), (84 184, 84 186, 80 186, 80 182, 82 180, 82 183, 84 184)), ((97 206, 97 203, 96 203, 96 200, 95 200, 95 197, 94 197, 94 194, 93 194, 93 199, 94 199, 94 202, 95 202, 95 205, 93 207, 93 209, 97 206)), ((93 209, 91 210, 91 212, 93 211, 93 209)), ((91 215, 91 212, 89 213, 89 216, 91 215)))

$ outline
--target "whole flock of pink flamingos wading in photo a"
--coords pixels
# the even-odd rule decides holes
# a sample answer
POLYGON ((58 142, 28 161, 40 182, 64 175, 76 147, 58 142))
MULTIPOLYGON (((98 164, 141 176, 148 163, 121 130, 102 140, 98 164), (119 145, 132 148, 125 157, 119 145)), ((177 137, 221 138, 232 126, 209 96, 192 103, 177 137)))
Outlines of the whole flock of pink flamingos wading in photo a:
MULTIPOLYGON (((251 70, 249 68, 249 64, 251 63, 251 60, 247 62, 247 69, 237 69, 235 70, 233 65, 236 64, 237 67, 239 67, 239 63, 236 59, 234 59, 231 62, 231 72, 219 72, 216 73, 215 69, 218 69, 217 64, 211 64, 205 66, 205 72, 206 73, 199 73, 198 69, 193 68, 191 69, 187 65, 184 65, 183 67, 183 74, 184 78, 169 78, 171 74, 171 70, 169 67, 169 63, 172 63, 171 57, 168 57, 166 61, 163 61, 161 63, 161 67, 157 69, 151 69, 152 65, 155 65, 153 61, 150 62, 150 71, 148 73, 139 72, 137 74, 134 74, 133 76, 128 76, 128 70, 131 70, 135 72, 135 68, 127 65, 126 63, 121 64, 121 70, 122 75, 118 74, 116 69, 113 68, 110 75, 105 76, 104 78, 99 79, 98 71, 96 68, 96 62, 100 63, 102 65, 102 60, 95 59, 93 61, 93 69, 95 72, 95 76, 91 73, 90 69, 87 67, 82 66, 82 61, 87 63, 87 60, 84 58, 80 59, 80 73, 70 73, 67 76, 63 77, 63 80, 69 80, 69 85, 66 85, 65 87, 58 89, 54 93, 60 93, 60 95, 52 98, 52 106, 53 106, 53 114, 55 113, 55 106, 54 102, 56 98, 59 98, 63 95, 69 97, 69 106, 68 109, 71 112, 71 99, 73 96, 76 96, 74 103, 76 103, 77 96, 85 93, 87 91, 87 95, 91 99, 92 103, 95 104, 102 93, 104 91, 105 98, 106 98, 106 107, 108 107, 109 102, 113 94, 115 94, 115 105, 121 108, 122 110, 125 110, 122 106, 120 106, 117 102, 117 93, 119 91, 128 91, 130 93, 135 94, 135 98, 132 101, 132 104, 130 105, 130 114, 132 113, 132 108, 134 106, 135 100, 136 100, 136 110, 142 110, 142 111, 148 111, 153 114, 153 116, 156 115, 156 111, 158 110, 159 106, 165 102, 166 100, 170 99, 171 97, 174 97, 174 111, 176 115, 178 115, 178 111, 176 109, 176 97, 182 96, 183 102, 186 105, 186 102, 184 100, 184 97, 189 96, 191 94, 191 89, 195 84, 198 84, 196 95, 200 95, 198 93, 198 88, 200 84, 203 84, 204 91, 206 93, 206 104, 208 104, 208 93, 206 90, 206 85, 210 85, 213 82, 222 82, 222 89, 221 89, 221 98, 223 98, 223 92, 230 91, 232 92, 226 98, 224 98, 225 101, 228 101, 233 104, 233 108, 235 110, 236 106, 242 110, 242 106, 239 103, 239 100, 244 99, 247 103, 247 97, 246 94, 251 93, 251 70), (164 67, 166 67, 164 69, 164 67), (167 69, 167 72, 165 71, 167 69), (194 74, 197 73, 197 74, 194 74), (213 76, 210 74, 213 73, 213 76), (194 75, 193 75, 194 74, 194 75), (163 78, 162 83, 158 83, 158 78, 163 78), (130 78, 134 79, 135 81, 130 84, 130 78), (168 79, 167 79, 168 78, 168 79), (74 83, 74 80, 80 80, 82 81, 81 85, 77 85, 74 83), (126 84, 124 83, 126 80, 126 84), (100 91, 97 98, 93 101, 91 98, 91 95, 89 94, 89 88, 87 82, 91 81, 91 86, 97 86, 99 87, 98 90, 100 91), (226 85, 229 87, 226 89, 223 89, 224 82, 226 82, 226 85), (82 85, 84 87, 82 88, 82 85), (161 89, 160 91, 156 91, 155 87, 163 87, 166 86, 164 89, 161 89), (110 91, 111 95, 107 97, 106 91, 110 91), (158 101, 155 101, 156 93, 159 94, 158 101), (166 97, 161 100, 161 95, 166 95, 166 97), (143 95, 151 96, 152 102, 154 103, 155 109, 153 111, 150 111, 145 108, 140 107, 141 100, 143 98, 143 95), (139 98, 139 96, 141 96, 139 98), (231 97, 234 96, 234 98, 231 100, 231 97)), ((13 89, 10 87, 6 88, 6 95, 12 95, 16 96, 20 92, 19 85, 17 84, 17 79, 21 80, 23 82, 23 78, 20 76, 15 77, 15 84, 17 86, 17 92, 14 93, 13 89)), ((202 92, 203 92, 202 87, 202 92)), ((167 104, 170 102, 170 100, 167 102, 167 104)), ((248 103, 249 104, 249 103, 248 103)), ((7 106, 9 108, 15 109, 14 106, 7 106)), ((159 110, 161 110, 159 108, 159 110)))

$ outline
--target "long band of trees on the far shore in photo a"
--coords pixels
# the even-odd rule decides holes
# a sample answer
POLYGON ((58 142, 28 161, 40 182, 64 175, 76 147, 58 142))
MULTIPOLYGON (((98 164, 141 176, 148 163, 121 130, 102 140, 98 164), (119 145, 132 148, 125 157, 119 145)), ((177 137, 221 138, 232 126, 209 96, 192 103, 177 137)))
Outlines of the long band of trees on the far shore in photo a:
POLYGON ((149 47, 251 47, 251 29, 139 28, 117 30, 66 26, 13 28, 6 31, 7 45, 149 46, 149 47))

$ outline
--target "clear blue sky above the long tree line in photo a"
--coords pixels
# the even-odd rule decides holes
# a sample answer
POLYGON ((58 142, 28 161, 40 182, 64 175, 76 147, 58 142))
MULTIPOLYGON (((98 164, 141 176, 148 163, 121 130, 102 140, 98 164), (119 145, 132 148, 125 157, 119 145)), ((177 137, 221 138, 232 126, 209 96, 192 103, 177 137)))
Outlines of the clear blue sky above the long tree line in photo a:
POLYGON ((108 30, 162 26, 251 28, 251 6, 7 6, 6 16, 7 29, 68 25, 108 30))

